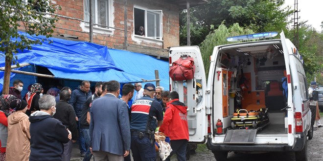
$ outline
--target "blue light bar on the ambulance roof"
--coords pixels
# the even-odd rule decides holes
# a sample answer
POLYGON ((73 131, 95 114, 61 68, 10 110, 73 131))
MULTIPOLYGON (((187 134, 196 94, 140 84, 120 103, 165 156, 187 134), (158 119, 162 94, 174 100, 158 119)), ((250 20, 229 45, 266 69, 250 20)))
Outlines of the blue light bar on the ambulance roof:
POLYGON ((254 40, 254 39, 265 39, 265 38, 273 38, 278 35, 278 32, 263 32, 257 34, 250 35, 240 35, 227 38, 227 41, 243 41, 243 40, 254 40))

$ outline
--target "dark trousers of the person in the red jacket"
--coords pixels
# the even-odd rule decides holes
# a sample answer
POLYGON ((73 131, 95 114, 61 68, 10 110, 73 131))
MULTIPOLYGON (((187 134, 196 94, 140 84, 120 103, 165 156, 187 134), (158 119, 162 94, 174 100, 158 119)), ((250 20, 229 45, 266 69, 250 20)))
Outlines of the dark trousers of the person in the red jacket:
POLYGON ((170 155, 166 158, 166 161, 170 161, 170 157, 172 157, 173 154, 176 154, 177 161, 186 161, 186 146, 187 146, 187 140, 174 140, 170 141, 170 147, 172 147, 173 151, 170 152, 170 155))

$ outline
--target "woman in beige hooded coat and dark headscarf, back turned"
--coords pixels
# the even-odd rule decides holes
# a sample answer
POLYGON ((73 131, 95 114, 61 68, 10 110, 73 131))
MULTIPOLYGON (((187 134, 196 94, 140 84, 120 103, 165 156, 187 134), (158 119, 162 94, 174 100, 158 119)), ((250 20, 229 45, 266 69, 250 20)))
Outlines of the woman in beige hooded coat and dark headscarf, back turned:
POLYGON ((5 159, 6 161, 29 161, 30 122, 25 114, 27 102, 16 99, 11 101, 10 107, 16 111, 8 116, 8 141, 5 159))

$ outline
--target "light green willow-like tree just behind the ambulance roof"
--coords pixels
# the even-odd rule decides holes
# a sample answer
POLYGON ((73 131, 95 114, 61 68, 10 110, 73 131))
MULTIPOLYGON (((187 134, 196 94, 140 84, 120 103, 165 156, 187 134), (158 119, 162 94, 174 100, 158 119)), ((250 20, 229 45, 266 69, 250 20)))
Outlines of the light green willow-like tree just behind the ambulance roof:
POLYGON ((218 29, 213 30, 200 45, 206 76, 208 76, 210 66, 209 57, 213 54, 214 46, 234 43, 227 41, 228 37, 253 33, 254 32, 250 29, 240 27, 238 23, 234 23, 229 28, 227 28, 226 25, 221 24, 218 29))

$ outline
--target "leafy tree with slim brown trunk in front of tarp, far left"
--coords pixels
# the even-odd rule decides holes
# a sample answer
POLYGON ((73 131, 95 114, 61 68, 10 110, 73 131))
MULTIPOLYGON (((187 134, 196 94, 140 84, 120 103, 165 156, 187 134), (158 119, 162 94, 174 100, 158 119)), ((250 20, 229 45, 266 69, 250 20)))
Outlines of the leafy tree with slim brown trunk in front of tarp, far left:
POLYGON ((48 15, 56 9, 61 9, 60 6, 51 4, 51 0, 27 1, 0 0, 0 54, 5 57, 2 94, 8 94, 11 64, 19 66, 15 54, 24 49, 30 50, 31 44, 42 44, 42 40, 30 40, 18 31, 23 30, 29 35, 44 35, 49 38, 54 32, 55 22, 58 21, 56 16, 48 15))

